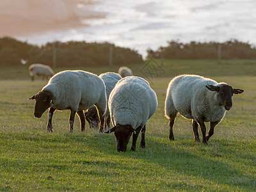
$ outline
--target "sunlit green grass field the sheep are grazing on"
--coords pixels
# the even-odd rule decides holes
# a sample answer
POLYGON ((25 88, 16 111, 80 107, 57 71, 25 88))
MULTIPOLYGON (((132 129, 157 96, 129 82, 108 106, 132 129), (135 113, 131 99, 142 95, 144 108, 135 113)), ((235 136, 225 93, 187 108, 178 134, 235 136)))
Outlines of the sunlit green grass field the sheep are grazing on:
MULTIPOLYGON (((69 133, 69 111, 56 111, 54 132, 47 132, 47 113, 34 118, 35 102, 27 100, 47 82, 31 82, 27 66, 1 68, 0 191, 256 191, 256 61, 159 63, 131 65, 134 74, 150 81, 159 102, 147 124, 146 148, 136 152, 117 152, 113 134, 100 134, 88 124, 80 132, 77 116, 69 133), (148 74, 152 67, 159 70, 148 74), (234 95, 209 145, 193 141, 191 120, 180 115, 175 141, 168 140, 164 99, 170 79, 179 74, 212 77, 245 90, 234 95)), ((118 67, 82 69, 100 74, 118 67)), ((140 136, 137 146, 139 141, 140 136)))

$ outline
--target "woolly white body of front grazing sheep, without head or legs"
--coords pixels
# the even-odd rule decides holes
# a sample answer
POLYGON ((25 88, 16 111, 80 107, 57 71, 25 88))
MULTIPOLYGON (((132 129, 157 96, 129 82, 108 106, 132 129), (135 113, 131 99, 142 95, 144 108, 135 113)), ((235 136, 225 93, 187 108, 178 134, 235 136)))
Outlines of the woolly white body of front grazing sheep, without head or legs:
POLYGON ((111 122, 115 126, 143 127, 157 108, 156 93, 141 77, 125 77, 116 83, 109 95, 111 122))

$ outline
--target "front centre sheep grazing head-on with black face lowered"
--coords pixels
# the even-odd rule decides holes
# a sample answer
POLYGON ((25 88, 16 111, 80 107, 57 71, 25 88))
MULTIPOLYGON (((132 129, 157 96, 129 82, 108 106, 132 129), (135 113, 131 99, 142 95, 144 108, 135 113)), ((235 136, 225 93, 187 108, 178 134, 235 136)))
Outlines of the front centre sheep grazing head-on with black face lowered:
POLYGON ((145 148, 145 125, 157 109, 156 93, 148 82, 136 76, 121 79, 109 95, 108 106, 114 127, 105 133, 115 132, 117 151, 125 152, 131 136, 135 151, 140 131, 140 147, 145 148))

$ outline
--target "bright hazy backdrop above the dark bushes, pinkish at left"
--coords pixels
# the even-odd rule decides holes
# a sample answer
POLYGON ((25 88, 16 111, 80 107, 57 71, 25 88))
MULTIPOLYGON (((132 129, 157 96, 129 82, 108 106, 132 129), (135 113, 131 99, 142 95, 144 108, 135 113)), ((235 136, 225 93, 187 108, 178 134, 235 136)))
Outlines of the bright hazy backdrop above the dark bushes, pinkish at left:
POLYGON ((170 40, 256 44, 255 0, 1 0, 0 36, 111 42, 147 54, 170 40))

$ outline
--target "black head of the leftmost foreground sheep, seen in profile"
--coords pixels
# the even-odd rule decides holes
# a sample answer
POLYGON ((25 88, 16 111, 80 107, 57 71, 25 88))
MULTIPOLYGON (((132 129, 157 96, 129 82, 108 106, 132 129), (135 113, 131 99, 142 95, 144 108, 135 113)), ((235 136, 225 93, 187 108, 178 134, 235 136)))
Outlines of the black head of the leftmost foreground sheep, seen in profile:
POLYGON ((49 92, 38 92, 33 95, 29 100, 36 100, 34 116, 40 118, 44 111, 52 106, 52 96, 49 92))

